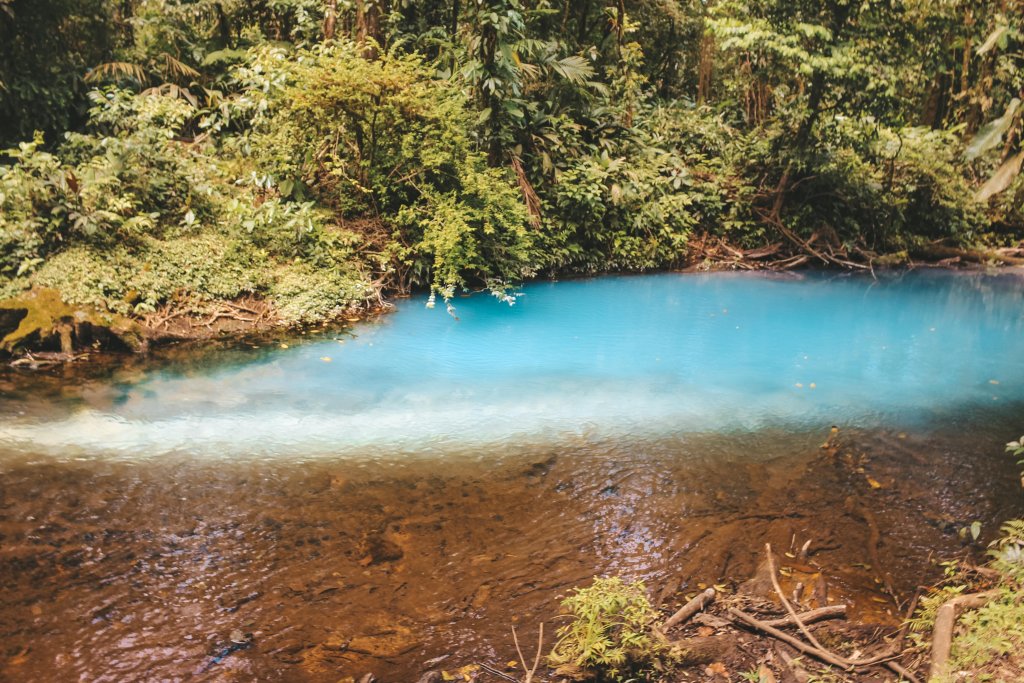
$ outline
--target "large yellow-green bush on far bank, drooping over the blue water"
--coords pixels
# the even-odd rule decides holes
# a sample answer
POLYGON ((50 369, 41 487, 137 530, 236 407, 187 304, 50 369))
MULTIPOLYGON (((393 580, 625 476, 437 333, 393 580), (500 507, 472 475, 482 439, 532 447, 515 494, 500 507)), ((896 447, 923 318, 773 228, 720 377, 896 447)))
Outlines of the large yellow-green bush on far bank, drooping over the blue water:
POLYGON ((265 66, 241 74, 256 88, 246 104, 265 122, 252 150, 278 195, 383 225, 383 267, 446 297, 531 272, 518 193, 475 152, 460 89, 415 55, 370 61, 351 43, 279 55, 264 51, 265 66), (275 90, 261 99, 268 82, 275 90))

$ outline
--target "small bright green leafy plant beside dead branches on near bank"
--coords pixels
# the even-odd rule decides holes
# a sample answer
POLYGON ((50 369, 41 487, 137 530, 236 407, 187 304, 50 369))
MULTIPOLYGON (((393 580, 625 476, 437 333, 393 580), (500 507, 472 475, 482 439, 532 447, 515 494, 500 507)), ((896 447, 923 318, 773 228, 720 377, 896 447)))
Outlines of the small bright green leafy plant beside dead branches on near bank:
POLYGON ((645 681, 663 668, 666 646, 651 635, 657 614, 642 582, 595 579, 562 601, 571 622, 558 630, 548 657, 577 680, 645 681))

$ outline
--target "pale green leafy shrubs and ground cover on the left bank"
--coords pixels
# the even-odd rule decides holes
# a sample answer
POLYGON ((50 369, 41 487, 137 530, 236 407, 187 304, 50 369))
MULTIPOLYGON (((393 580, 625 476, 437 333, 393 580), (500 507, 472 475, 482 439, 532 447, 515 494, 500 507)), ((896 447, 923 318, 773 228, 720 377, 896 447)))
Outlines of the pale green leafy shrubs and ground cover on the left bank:
POLYGON ((232 183, 214 150, 179 141, 196 115, 187 101, 116 89, 93 99, 90 132, 57 154, 23 143, 0 167, 4 295, 52 288, 70 304, 139 315, 255 294, 286 324, 370 295, 356 240, 328 212, 232 183))

